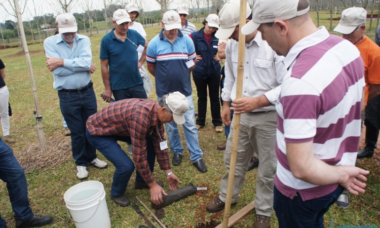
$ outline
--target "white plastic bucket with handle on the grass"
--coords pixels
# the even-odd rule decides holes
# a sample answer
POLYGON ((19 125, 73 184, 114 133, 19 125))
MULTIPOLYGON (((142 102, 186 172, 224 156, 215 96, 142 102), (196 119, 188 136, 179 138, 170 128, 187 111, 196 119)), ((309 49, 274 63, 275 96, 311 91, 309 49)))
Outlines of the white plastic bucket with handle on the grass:
POLYGON ((63 196, 77 228, 110 228, 103 184, 84 181, 70 187, 63 196))

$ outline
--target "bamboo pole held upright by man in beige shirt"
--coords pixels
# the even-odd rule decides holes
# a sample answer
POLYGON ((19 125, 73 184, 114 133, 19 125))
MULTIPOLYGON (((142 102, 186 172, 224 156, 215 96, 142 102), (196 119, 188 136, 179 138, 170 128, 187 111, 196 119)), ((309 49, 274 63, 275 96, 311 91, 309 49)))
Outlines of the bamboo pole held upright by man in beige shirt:
MULTIPOLYGON (((245 25, 247 2, 246 0, 240 0, 240 20, 239 20, 239 56, 238 56, 238 79, 236 84, 236 99, 242 98, 243 88, 243 73, 244 73, 244 52, 245 52, 245 35, 243 35, 240 29, 245 25)), ((227 228, 230 219, 231 200, 232 193, 234 191, 234 179, 235 179, 235 166, 236 157, 238 154, 238 140, 240 130, 240 114, 234 114, 234 133, 232 138, 231 148, 231 160, 230 160, 230 172, 229 181, 227 184, 227 195, 224 206, 224 216, 222 228, 227 228)))

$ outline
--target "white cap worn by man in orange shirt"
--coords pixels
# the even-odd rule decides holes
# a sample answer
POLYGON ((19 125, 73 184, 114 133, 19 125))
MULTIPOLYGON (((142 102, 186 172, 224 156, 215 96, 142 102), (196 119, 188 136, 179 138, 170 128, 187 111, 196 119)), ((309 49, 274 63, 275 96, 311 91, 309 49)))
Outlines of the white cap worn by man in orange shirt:
POLYGON ((350 34, 367 20, 367 11, 360 7, 352 7, 341 12, 339 24, 334 28, 334 31, 342 34, 350 34))

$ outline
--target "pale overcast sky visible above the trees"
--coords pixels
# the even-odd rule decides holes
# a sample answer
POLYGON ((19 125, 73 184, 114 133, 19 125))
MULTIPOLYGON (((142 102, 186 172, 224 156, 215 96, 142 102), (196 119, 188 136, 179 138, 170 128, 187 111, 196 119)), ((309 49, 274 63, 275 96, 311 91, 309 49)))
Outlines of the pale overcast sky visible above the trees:
MULTIPOLYGON (((0 22, 6 21, 6 20, 13 20, 15 21, 16 18, 12 16, 14 14, 14 6, 11 7, 11 4, 14 4, 15 0, 0 0, 0 3, 4 5, 2 7, 0 5, 0 22)), ((23 21, 29 21, 35 16, 35 11, 37 15, 44 15, 46 13, 53 13, 54 15, 58 15, 58 10, 54 9, 54 7, 51 6, 51 2, 54 0, 34 0, 34 4, 32 0, 18 0, 20 4, 20 9, 22 11, 22 7, 25 6, 25 2, 27 3, 24 13, 22 14, 22 20, 23 21)), ((69 0, 67 0, 69 1, 69 0)), ((83 0, 74 0, 74 1, 83 1, 83 0)), ((102 0, 90 0, 93 2, 93 9, 103 9, 103 1, 102 0)), ((123 0, 121 0, 123 1, 123 0)), ((141 1, 141 0, 137 0, 141 1)), ((158 10, 160 9, 160 5, 156 2, 156 0, 144 0, 146 1, 146 6, 149 7, 149 9, 145 9, 146 11, 151 10, 158 10)), ((178 5, 183 0, 175 0, 174 3, 171 5, 172 7, 178 5)), ((109 0, 107 0, 109 2, 109 0)), ((115 1, 113 1, 115 2, 115 1)), ((128 3, 128 0, 124 0, 123 2, 128 3)), ((81 11, 80 5, 77 3, 74 5, 73 10, 70 13, 80 13, 81 11)))

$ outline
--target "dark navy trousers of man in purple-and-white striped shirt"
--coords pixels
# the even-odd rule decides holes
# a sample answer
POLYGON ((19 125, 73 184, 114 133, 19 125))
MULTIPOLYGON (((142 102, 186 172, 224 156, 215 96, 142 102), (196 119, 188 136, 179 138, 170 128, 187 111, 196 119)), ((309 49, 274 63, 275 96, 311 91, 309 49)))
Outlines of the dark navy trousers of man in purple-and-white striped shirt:
POLYGON ((323 215, 343 192, 338 186, 332 193, 313 200, 302 201, 297 194, 290 199, 274 189, 274 205, 280 228, 323 228, 323 215))

